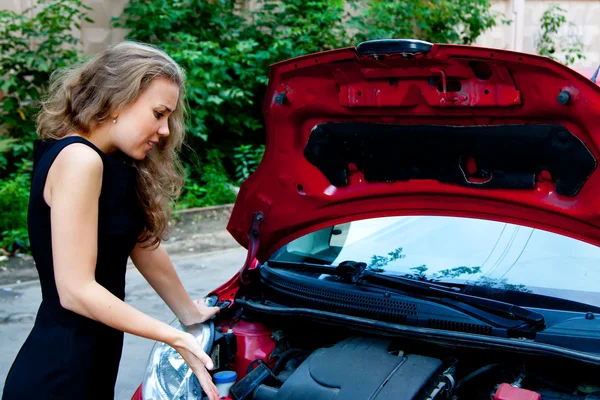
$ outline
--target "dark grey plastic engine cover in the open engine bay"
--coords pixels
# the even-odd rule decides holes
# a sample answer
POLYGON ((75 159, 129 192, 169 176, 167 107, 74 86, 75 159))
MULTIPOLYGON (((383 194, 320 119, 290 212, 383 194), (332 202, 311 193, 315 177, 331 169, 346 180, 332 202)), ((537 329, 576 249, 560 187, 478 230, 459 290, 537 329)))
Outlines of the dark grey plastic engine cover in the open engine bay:
POLYGON ((391 341, 354 337, 310 355, 275 396, 277 400, 416 399, 442 362, 388 352, 391 341))

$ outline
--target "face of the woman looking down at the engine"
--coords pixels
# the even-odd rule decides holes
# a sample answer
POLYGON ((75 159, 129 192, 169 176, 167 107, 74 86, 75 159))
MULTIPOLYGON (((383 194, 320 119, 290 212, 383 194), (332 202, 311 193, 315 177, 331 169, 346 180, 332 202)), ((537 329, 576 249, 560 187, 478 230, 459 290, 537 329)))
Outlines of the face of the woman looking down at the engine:
POLYGON ((179 87, 165 78, 155 78, 138 99, 120 111, 116 124, 109 121, 114 147, 136 160, 143 160, 169 136, 168 118, 177 106, 179 87))

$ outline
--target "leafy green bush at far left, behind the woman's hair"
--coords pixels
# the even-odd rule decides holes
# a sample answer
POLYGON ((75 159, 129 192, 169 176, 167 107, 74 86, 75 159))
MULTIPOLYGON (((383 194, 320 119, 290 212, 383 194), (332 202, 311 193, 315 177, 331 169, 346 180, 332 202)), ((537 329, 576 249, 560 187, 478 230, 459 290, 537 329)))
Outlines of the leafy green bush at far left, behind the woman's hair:
POLYGON ((72 31, 91 21, 89 9, 80 0, 38 0, 22 14, 0 11, 0 178, 14 171, 15 161, 30 158, 38 100, 50 74, 78 59, 72 31))

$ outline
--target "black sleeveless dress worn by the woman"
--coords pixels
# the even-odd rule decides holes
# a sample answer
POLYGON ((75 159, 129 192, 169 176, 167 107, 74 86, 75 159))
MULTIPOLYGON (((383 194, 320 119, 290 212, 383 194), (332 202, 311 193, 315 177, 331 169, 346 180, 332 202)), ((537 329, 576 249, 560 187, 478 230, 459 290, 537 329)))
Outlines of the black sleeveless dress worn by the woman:
POLYGON ((114 399, 123 332, 64 309, 54 281, 50 207, 43 191, 56 156, 72 143, 84 143, 102 158, 96 281, 122 300, 127 260, 144 227, 135 192, 136 169, 130 159, 122 153, 104 154, 77 136, 36 141, 28 228, 42 303, 6 378, 4 400, 114 399))

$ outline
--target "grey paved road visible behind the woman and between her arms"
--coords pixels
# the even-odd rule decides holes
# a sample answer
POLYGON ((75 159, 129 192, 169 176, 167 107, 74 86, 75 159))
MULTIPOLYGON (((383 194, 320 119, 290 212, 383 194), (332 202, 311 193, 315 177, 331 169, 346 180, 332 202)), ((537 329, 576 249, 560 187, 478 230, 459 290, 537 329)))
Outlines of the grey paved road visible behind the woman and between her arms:
MULTIPOLYGON (((218 253, 173 257, 173 263, 192 298, 201 298, 238 271, 244 262, 243 248, 218 253)), ((37 282, 0 288, 0 392, 10 366, 33 326, 41 301, 37 282)), ((127 271, 127 303, 164 322, 174 315, 135 268, 127 271)), ((137 389, 154 342, 125 335, 123 357, 115 399, 129 400, 137 389)))

